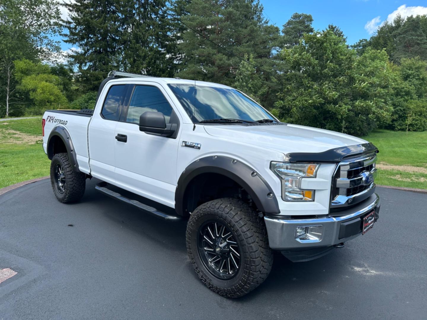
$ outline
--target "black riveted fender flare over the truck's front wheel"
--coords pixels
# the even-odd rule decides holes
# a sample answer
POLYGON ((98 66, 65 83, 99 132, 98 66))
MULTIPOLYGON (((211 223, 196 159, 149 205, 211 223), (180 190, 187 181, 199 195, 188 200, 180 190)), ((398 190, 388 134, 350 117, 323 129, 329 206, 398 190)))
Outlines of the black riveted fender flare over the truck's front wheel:
POLYGON ((175 211, 184 215, 184 196, 189 183, 202 173, 218 173, 231 178, 251 196, 257 209, 266 213, 280 213, 277 198, 266 180, 254 169, 239 160, 225 156, 197 159, 185 168, 175 191, 175 211))

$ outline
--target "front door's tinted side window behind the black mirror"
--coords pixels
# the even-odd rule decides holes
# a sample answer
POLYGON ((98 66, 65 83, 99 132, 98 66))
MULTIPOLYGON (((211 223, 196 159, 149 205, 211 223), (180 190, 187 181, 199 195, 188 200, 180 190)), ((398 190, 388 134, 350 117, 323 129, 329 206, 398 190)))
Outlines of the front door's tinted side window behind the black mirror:
POLYGON ((139 123, 139 116, 146 111, 163 113, 168 123, 172 107, 158 87, 137 85, 129 103, 126 122, 139 123))

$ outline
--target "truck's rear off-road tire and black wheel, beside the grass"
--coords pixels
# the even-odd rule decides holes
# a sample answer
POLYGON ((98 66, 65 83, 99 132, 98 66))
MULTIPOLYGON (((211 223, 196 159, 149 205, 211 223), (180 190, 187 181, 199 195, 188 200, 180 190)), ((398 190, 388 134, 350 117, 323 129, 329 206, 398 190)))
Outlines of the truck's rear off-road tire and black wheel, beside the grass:
POLYGON ((64 204, 79 201, 85 194, 86 175, 75 172, 67 153, 57 153, 50 163, 53 193, 64 204))

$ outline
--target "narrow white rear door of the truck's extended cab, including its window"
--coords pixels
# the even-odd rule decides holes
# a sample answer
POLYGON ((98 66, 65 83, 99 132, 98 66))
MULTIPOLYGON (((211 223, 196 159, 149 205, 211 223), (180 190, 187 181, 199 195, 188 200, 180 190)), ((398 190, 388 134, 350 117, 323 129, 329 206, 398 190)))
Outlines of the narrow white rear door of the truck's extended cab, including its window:
POLYGON ((103 101, 98 101, 88 130, 91 175, 110 183, 115 182, 114 129, 120 119, 126 87, 125 84, 105 85, 107 94, 103 101))

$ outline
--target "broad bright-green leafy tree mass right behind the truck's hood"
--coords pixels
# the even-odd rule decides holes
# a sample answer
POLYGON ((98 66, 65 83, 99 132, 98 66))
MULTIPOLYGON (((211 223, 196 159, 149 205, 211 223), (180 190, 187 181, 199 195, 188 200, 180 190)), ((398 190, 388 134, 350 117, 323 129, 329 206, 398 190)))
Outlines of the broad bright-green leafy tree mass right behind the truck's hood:
POLYGON ((302 40, 281 52, 281 119, 356 135, 390 121, 389 87, 398 76, 385 51, 369 49, 357 57, 331 30, 302 40))

